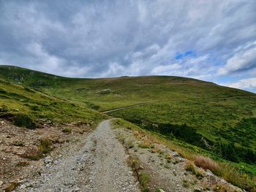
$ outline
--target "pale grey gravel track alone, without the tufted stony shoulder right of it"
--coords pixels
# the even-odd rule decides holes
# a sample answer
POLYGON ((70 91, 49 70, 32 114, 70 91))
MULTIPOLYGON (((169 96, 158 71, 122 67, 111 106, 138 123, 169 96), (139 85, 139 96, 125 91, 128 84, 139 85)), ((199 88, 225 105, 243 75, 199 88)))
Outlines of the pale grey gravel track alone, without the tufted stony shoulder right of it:
POLYGON ((16 191, 140 191, 126 160, 110 120, 105 120, 59 159, 45 158, 46 171, 16 191))

